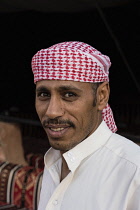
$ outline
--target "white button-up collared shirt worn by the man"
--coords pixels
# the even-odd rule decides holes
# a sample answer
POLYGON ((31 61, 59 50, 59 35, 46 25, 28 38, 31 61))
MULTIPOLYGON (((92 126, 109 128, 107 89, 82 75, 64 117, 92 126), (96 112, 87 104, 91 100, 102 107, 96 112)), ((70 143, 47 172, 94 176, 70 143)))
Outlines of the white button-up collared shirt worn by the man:
POLYGON ((140 147, 104 121, 64 158, 70 173, 60 182, 60 152, 46 153, 38 210, 140 210, 140 147))

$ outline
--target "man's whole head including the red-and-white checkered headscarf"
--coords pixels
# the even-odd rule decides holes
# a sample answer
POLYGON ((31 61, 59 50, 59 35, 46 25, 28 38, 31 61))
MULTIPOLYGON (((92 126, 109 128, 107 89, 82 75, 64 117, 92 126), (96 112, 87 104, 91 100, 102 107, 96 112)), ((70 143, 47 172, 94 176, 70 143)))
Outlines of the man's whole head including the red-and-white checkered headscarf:
POLYGON ((82 42, 56 44, 33 57, 36 110, 54 148, 71 149, 102 118, 116 130, 107 104, 110 65, 108 56, 82 42))

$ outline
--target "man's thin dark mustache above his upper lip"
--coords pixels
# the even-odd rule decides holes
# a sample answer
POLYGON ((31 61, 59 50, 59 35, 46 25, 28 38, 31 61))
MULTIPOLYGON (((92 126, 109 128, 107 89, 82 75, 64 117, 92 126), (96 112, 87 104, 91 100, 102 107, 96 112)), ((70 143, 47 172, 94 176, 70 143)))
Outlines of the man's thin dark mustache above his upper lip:
POLYGON ((75 125, 72 121, 70 120, 61 120, 61 119, 48 119, 48 120, 44 120, 42 122, 43 127, 45 128, 48 125, 69 125, 73 128, 75 128, 75 125))

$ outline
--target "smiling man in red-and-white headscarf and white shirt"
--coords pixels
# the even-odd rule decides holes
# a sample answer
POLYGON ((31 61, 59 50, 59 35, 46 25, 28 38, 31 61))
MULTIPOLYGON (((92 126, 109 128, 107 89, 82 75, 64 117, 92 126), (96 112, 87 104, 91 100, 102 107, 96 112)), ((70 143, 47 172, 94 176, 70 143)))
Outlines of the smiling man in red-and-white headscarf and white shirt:
POLYGON ((115 134, 110 65, 82 42, 32 59, 36 110, 51 145, 39 210, 140 210, 140 149, 115 134))

